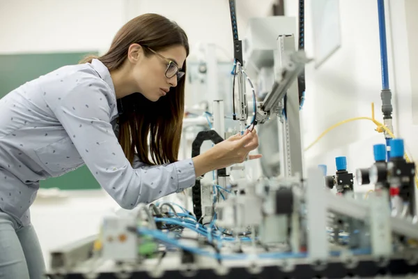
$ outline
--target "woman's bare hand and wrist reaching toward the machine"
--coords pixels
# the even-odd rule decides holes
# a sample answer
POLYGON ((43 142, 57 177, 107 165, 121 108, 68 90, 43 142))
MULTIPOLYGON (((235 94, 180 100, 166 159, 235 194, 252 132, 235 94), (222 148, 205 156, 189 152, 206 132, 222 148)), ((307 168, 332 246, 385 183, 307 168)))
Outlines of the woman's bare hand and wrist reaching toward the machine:
MULTIPOLYGON (((250 151, 258 147, 258 136, 253 128, 245 130, 244 135, 233 135, 219 142, 205 153, 193 158, 196 176, 201 176, 214 169, 222 169, 246 160, 250 151)), ((250 155, 249 159, 261 158, 260 154, 250 155)))

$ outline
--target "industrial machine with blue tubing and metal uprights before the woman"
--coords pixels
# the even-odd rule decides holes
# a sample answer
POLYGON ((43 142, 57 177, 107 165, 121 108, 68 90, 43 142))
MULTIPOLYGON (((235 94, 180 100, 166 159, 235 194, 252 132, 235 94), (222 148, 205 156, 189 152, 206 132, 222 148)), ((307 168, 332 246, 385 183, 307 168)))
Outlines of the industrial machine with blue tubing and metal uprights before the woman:
MULTIPOLYGON (((418 276, 415 164, 405 160, 403 140, 390 141, 389 162, 386 146, 376 145, 376 163, 369 168, 351 172, 346 158, 337 157, 334 175, 327 175, 326 166, 303 172, 296 80, 311 59, 295 50, 293 33, 277 36, 272 89, 263 100, 256 99, 242 58, 235 1, 229 3, 235 47, 233 119, 242 132, 279 119, 279 175, 251 179, 246 163, 233 165, 213 172, 210 186, 196 181, 193 212, 162 203, 111 214, 98 235, 52 251, 49 276, 418 276), (367 197, 355 195, 355 176, 360 184, 373 183, 375 190, 367 197)), ((213 129, 197 135, 192 156, 204 141, 216 144, 226 137, 222 100, 214 100, 213 111, 213 129)))

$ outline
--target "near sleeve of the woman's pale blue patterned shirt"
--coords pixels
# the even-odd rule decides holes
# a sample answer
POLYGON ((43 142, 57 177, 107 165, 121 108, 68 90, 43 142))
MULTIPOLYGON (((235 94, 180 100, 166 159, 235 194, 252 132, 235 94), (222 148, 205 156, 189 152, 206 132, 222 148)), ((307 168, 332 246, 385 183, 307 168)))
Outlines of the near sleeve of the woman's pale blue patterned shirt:
POLYGON ((124 209, 194 186, 192 159, 166 165, 130 165, 111 126, 113 94, 102 80, 80 82, 56 106, 56 118, 71 137, 100 186, 124 209))

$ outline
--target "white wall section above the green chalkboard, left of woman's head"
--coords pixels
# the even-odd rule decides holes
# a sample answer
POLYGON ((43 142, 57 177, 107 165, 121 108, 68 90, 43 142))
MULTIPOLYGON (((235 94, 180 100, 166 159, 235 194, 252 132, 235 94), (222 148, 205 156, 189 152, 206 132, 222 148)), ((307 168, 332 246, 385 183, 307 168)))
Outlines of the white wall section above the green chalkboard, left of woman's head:
POLYGON ((1 1, 0 53, 104 50, 124 17, 123 1, 1 1))

